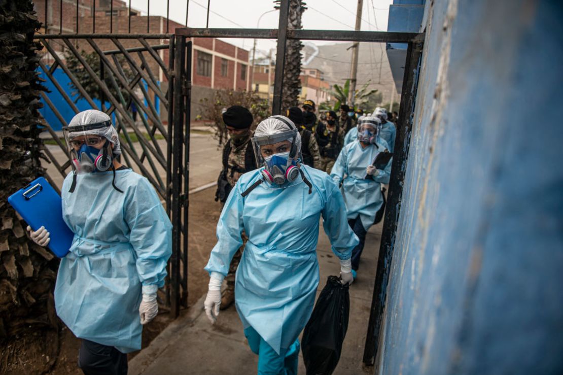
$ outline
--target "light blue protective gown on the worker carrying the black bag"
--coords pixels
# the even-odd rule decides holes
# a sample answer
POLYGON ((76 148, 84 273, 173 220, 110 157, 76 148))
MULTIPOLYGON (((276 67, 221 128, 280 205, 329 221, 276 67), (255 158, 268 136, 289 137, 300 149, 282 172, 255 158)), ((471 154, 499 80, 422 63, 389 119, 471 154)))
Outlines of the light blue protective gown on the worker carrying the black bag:
POLYGON ((243 198, 241 194, 260 179, 260 169, 240 177, 221 212, 217 244, 205 266, 210 274, 226 275, 245 231, 248 242, 236 271, 236 310, 244 328, 254 328, 278 354, 297 340, 315 303, 320 216, 338 258, 350 258, 358 244, 332 179, 318 169, 301 169, 312 194, 298 177, 297 184, 283 189, 262 182, 243 198))

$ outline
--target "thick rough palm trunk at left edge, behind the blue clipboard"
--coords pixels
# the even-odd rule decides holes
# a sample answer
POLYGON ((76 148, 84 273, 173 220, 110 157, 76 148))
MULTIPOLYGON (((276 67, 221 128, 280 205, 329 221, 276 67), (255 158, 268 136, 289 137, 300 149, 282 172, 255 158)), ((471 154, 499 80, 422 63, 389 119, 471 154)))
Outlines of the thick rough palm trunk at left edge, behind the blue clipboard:
MULTIPOLYGON (((40 27, 30 0, 0 0, 0 35, 4 35, 0 38, 0 346, 4 346, 0 372, 9 370, 8 356, 23 358, 22 352, 13 350, 24 340, 16 335, 35 334, 39 341, 46 337, 41 332, 50 331, 55 342, 49 345, 58 350, 52 300, 58 261, 28 240, 26 223, 7 203, 8 195, 44 172, 37 126, 42 122, 38 109, 43 87, 36 72, 41 44, 33 41, 40 27)), ((43 359, 46 369, 54 361, 43 359)))

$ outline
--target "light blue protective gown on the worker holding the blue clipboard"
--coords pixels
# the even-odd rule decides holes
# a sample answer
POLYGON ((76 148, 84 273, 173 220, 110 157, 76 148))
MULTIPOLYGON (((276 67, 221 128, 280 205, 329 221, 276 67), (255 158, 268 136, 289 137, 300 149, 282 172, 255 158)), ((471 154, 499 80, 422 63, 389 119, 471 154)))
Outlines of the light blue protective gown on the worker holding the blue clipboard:
POLYGON ((141 285, 164 285, 172 225, 149 181, 131 169, 77 175, 62 184, 62 216, 74 232, 55 286, 57 315, 79 338, 141 349, 141 285))

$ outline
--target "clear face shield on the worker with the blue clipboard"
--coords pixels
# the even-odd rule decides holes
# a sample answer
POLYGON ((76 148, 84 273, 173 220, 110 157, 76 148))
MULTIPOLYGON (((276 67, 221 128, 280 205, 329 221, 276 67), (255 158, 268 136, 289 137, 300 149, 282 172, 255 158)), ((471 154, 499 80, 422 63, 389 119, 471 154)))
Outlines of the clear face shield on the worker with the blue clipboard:
POLYGON ((101 136, 110 126, 111 120, 107 120, 62 128, 70 164, 75 173, 104 172, 111 167, 113 164, 111 143, 106 137, 101 136))

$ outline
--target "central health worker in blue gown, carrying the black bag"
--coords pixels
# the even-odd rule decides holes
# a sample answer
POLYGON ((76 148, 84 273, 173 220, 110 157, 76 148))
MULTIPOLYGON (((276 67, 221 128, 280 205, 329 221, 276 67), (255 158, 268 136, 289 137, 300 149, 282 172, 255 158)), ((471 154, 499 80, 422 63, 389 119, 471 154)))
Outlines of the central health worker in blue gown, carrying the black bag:
POLYGON ((342 194, 327 173, 301 163, 301 136, 284 116, 263 120, 252 138, 258 169, 244 173, 217 224, 217 244, 205 266, 205 312, 212 323, 221 282, 248 236, 235 281, 235 305, 258 374, 297 374, 298 336, 311 315, 319 284, 319 219, 352 281, 350 256, 358 238, 347 225, 342 194))

